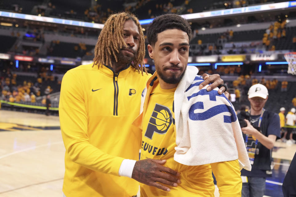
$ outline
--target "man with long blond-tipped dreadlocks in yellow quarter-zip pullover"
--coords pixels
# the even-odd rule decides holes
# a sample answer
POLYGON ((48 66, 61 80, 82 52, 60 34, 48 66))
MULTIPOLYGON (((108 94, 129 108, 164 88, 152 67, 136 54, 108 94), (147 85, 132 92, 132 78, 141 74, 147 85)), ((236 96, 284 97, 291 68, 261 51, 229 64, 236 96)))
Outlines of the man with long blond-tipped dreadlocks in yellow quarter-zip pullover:
MULTIPOLYGON (((131 197, 138 192, 137 181, 165 191, 168 188, 157 182, 179 183, 178 173, 163 166, 165 160, 141 160, 143 170, 134 170, 142 137, 131 123, 151 76, 143 66, 144 56, 138 19, 129 13, 113 14, 99 35, 94 63, 64 75, 59 104, 66 148, 64 196, 131 197)), ((223 80, 212 75, 203 85, 210 82, 215 88, 223 80)))

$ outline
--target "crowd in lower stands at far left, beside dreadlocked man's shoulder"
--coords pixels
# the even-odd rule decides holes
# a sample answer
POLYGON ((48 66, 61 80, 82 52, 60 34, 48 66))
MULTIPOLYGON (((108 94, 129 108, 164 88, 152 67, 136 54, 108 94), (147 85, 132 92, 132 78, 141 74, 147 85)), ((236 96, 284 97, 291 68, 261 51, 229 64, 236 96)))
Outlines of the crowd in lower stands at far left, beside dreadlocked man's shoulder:
POLYGON ((0 99, 9 102, 35 103, 36 97, 60 91, 61 82, 52 75, 48 76, 44 68, 41 70, 43 72, 38 74, 38 78, 17 76, 9 69, 5 72, 2 71, 0 99), (54 89, 48 84, 55 84, 54 89))

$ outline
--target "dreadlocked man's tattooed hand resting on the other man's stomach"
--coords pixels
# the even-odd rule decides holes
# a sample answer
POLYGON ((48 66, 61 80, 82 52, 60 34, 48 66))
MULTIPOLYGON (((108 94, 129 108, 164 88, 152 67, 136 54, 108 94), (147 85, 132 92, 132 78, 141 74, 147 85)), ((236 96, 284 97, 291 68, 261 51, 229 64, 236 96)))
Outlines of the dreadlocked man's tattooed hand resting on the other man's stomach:
POLYGON ((171 191, 170 188, 162 185, 177 187, 181 183, 178 178, 179 173, 171 168, 162 166, 166 160, 144 159, 136 162, 132 178, 140 183, 154 186, 164 191, 171 191), (157 183, 158 182, 158 183, 157 183), (162 183, 162 184, 159 184, 162 183))

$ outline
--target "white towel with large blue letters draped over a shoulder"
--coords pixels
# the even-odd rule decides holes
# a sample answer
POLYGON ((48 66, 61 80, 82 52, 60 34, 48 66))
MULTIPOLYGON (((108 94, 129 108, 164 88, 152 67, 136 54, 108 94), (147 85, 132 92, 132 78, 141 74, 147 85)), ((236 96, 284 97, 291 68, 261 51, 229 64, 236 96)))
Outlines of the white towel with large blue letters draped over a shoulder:
MULTIPOLYGON (((198 166, 239 159, 251 170, 241 128, 234 108, 218 88, 199 89, 198 69, 187 66, 174 94, 176 126, 175 161, 198 166)), ((146 92, 145 92, 146 93, 146 92)), ((145 96, 144 96, 145 98, 145 96)))

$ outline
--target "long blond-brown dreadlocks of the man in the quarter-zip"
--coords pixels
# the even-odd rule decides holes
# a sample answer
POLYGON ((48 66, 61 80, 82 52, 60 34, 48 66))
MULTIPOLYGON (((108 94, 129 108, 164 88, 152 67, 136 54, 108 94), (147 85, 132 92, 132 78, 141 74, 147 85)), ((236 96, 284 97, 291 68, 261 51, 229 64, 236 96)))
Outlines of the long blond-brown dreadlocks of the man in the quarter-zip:
POLYGON ((112 14, 105 22, 104 28, 102 29, 97 44, 95 46, 95 57, 93 58, 94 63, 92 66, 99 66, 101 63, 102 65, 104 64, 112 67, 111 56, 115 58, 116 62, 118 61, 116 53, 118 54, 119 50, 122 49, 122 47, 127 47, 122 37, 123 25, 125 21, 130 19, 136 23, 140 33, 140 42, 137 56, 134 57, 131 66, 134 69, 138 70, 138 72, 140 72, 141 70, 142 74, 143 71, 147 73, 143 62, 145 57, 145 41, 142 27, 134 14, 126 12, 112 14))

